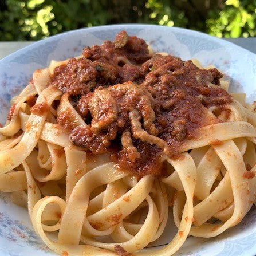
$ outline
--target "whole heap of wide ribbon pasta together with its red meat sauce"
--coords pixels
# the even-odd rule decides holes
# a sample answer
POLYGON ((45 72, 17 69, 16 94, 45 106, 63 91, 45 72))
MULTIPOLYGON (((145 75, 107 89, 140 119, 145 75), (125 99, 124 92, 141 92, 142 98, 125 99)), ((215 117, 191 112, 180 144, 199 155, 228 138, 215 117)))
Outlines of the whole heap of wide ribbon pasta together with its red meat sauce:
POLYGON ((256 104, 228 87, 125 31, 52 61, 0 128, 0 190, 60 255, 170 256, 188 235, 215 237, 256 196, 256 104))

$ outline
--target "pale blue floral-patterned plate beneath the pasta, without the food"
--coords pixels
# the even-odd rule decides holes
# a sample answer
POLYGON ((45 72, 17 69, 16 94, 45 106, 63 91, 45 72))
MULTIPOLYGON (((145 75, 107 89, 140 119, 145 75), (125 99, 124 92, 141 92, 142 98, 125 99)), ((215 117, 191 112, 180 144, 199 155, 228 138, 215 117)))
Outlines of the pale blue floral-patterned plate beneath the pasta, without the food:
MULTIPOLYGON (((231 78, 230 91, 246 92, 256 100, 256 55, 237 46, 187 29, 153 25, 113 25, 58 34, 38 41, 0 60, 0 122, 5 123, 11 97, 21 92, 34 70, 50 60, 64 60, 81 54, 84 46, 113 40, 120 30, 144 38, 157 52, 168 52, 183 60, 198 58, 202 65, 215 65, 231 78)), ((170 240, 170 238, 168 238, 170 240)), ((216 238, 187 239, 175 255, 256 254, 256 207, 239 225, 216 238)), ((27 210, 0 194, 0 255, 55 255, 34 233, 27 210)))

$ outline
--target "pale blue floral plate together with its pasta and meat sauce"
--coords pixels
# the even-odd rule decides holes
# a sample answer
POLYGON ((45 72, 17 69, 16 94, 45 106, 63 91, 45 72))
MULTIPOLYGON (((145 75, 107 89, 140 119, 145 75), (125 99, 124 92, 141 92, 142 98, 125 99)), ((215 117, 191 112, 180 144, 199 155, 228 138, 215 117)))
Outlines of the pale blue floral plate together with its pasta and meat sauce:
POLYGON ((255 255, 255 57, 111 25, 0 60, 0 254, 255 255))

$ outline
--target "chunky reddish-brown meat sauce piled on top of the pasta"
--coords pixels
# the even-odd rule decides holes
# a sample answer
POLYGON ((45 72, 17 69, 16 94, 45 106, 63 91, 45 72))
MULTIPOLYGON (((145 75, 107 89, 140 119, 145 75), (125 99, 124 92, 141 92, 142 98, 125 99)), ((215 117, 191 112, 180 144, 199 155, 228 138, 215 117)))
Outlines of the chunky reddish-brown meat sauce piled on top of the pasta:
POLYGON ((216 123, 207 109, 231 103, 220 78, 217 69, 199 69, 191 60, 151 56, 144 40, 121 31, 113 42, 86 47, 82 58, 54 69, 52 84, 69 94, 86 125, 68 125, 69 115, 57 121, 86 151, 115 148, 122 170, 159 175, 161 155, 179 157, 197 128, 216 123))

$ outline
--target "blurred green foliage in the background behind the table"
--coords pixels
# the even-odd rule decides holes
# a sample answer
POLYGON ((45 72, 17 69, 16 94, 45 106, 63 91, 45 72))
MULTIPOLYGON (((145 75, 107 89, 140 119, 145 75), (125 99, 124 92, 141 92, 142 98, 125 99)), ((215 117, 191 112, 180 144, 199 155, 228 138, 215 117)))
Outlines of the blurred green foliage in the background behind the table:
POLYGON ((39 40, 62 31, 115 23, 253 37, 256 0, 0 0, 0 41, 39 40))

